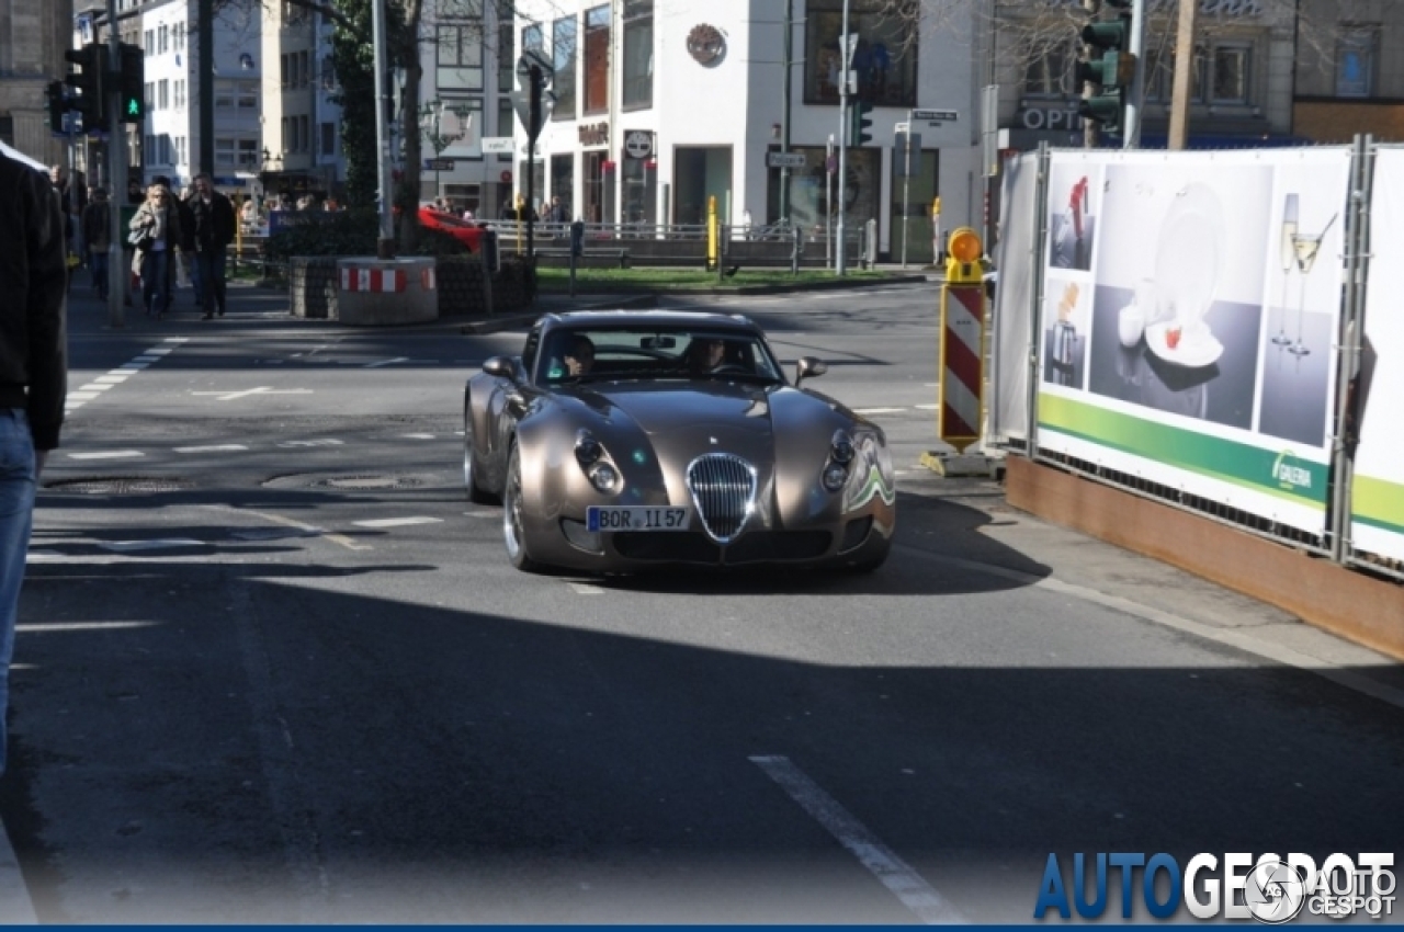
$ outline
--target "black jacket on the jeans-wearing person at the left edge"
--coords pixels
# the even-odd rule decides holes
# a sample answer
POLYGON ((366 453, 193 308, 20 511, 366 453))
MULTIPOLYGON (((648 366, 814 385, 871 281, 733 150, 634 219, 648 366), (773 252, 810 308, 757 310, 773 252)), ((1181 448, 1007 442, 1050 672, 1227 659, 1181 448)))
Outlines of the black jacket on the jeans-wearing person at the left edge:
POLYGON ((58 446, 63 425, 65 253, 49 178, 0 154, 0 407, 28 411, 37 449, 58 446))

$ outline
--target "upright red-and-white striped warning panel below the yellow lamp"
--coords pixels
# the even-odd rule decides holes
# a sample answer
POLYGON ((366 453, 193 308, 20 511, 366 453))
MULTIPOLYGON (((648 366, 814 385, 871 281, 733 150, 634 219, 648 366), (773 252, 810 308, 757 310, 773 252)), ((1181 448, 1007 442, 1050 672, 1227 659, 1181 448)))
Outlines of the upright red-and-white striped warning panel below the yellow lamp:
POLYGON ((941 380, 936 434, 958 449, 980 439, 984 285, 941 289, 941 380))

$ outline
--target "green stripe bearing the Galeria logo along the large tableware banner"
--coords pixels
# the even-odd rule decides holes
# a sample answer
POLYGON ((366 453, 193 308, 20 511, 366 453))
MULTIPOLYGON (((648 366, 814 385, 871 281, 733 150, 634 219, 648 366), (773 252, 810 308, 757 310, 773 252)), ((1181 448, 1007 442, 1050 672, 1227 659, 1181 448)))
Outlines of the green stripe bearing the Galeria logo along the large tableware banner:
POLYGON ((1325 510, 1324 463, 1158 424, 1054 394, 1039 394, 1039 425, 1090 444, 1325 510))

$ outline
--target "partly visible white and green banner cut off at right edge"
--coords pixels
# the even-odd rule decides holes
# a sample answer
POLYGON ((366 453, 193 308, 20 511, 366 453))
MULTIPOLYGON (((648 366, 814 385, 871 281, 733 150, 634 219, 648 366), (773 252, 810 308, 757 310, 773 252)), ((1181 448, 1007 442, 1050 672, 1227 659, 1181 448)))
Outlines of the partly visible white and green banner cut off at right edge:
POLYGON ((1360 338, 1360 411, 1351 486, 1351 546, 1404 560, 1404 149, 1375 157, 1369 292, 1360 338))

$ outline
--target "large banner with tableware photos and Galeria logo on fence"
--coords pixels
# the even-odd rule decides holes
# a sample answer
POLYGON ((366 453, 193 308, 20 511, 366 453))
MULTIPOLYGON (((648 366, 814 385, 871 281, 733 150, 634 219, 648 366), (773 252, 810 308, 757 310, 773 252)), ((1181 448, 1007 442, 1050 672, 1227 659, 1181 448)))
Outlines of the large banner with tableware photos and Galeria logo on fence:
POLYGON ((1039 446, 1325 531, 1348 149, 1059 152, 1039 446))

